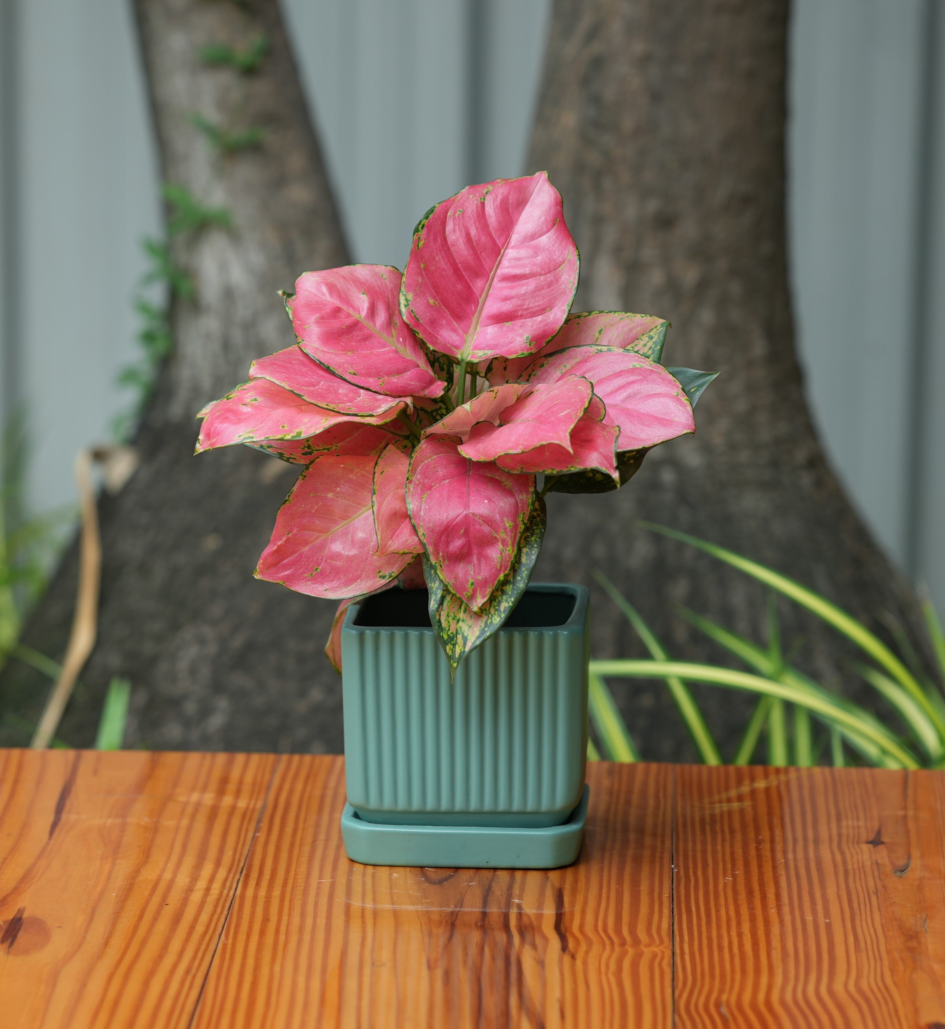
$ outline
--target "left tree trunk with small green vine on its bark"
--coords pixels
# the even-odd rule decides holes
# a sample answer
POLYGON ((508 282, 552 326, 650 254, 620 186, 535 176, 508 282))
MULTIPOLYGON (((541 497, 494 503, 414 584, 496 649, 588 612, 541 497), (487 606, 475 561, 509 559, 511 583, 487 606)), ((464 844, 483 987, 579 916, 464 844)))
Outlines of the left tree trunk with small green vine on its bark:
MULTIPOLYGON (((192 453, 196 412, 244 381, 252 358, 292 344, 277 290, 347 263, 338 218, 277 0, 137 0, 136 11, 162 178, 225 209, 230 225, 174 238, 193 293, 172 304, 175 350, 138 433, 139 470, 100 504, 99 640, 60 735, 89 745, 122 675, 126 746, 337 751, 340 683, 322 655, 335 604, 252 577, 297 469, 245 448, 192 453), (212 44, 228 56, 202 52, 212 44), (263 135, 212 146, 208 125, 230 144, 263 135)), ((73 547, 25 642, 62 652, 75 579, 73 547)), ((35 720, 45 687, 11 663, 0 702, 35 720)))

